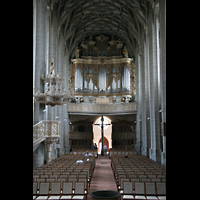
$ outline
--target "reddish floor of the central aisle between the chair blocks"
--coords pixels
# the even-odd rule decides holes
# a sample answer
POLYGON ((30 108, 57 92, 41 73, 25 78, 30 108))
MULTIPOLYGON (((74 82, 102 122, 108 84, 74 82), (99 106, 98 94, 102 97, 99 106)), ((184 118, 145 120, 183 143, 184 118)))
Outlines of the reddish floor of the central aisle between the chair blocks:
POLYGON ((91 193, 96 190, 114 190, 117 191, 113 171, 111 169, 111 160, 104 156, 95 159, 95 169, 91 179, 90 188, 88 187, 87 199, 91 200, 91 193))

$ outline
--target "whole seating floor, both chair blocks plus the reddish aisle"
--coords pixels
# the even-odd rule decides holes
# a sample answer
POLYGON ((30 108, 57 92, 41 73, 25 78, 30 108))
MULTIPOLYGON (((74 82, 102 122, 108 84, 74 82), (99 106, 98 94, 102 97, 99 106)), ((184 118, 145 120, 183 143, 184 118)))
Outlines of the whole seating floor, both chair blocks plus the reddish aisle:
POLYGON ((87 159, 84 154, 65 154, 34 169, 33 199, 91 200, 96 190, 118 191, 121 199, 166 199, 164 165, 143 155, 87 159))

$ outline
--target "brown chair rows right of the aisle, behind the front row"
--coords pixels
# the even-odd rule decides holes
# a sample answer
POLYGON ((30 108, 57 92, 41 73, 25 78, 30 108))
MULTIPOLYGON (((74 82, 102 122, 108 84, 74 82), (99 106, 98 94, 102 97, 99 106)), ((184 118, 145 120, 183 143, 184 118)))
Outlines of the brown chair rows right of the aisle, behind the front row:
POLYGON ((114 173, 118 190, 123 189, 123 181, 133 183, 165 183, 166 169, 161 164, 156 163, 141 155, 129 155, 128 159, 121 155, 111 157, 111 166, 114 173))

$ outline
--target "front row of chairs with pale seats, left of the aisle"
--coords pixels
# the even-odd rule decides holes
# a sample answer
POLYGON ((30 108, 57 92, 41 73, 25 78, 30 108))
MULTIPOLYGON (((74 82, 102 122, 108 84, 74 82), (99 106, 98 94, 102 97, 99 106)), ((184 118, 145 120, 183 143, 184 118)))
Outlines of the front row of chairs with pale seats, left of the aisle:
POLYGON ((47 199, 87 199, 84 182, 75 182, 73 190, 72 182, 51 182, 39 184, 39 191, 37 191, 37 183, 33 183, 33 200, 47 200, 47 199))

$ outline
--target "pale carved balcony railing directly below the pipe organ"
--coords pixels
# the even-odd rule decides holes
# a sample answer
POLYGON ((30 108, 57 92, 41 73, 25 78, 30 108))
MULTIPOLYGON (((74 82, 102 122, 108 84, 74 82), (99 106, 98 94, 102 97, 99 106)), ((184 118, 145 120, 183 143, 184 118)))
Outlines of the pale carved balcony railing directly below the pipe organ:
POLYGON ((87 103, 68 103, 69 113, 110 113, 126 114, 137 111, 137 103, 120 103, 120 104, 87 104, 87 103))

